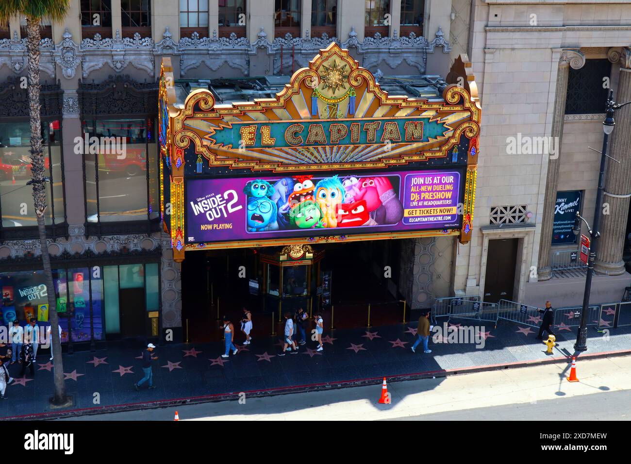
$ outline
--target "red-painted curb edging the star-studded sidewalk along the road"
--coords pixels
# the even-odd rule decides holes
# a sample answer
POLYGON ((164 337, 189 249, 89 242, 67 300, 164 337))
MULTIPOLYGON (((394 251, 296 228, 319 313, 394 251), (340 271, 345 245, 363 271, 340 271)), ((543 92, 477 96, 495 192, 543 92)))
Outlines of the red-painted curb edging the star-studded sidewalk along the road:
MULTIPOLYGON (((631 355, 631 350, 618 350, 618 351, 606 351, 594 354, 584 354, 580 355, 581 359, 603 359, 608 357, 618 357, 631 355)), ((578 356, 577 356, 578 357, 578 356)), ((409 380, 419 380, 426 378, 442 378, 447 376, 454 376, 459 374, 473 374, 475 372, 485 372, 485 371, 498 371, 502 369, 516 369, 518 367, 531 367, 531 366, 543 366, 546 364, 562 364, 571 362, 572 357, 547 357, 543 359, 534 359, 527 361, 517 361, 517 362, 509 362, 504 364, 487 364, 484 366, 473 366, 473 367, 463 367, 457 369, 442 369, 440 371, 426 371, 426 372, 415 372, 411 374, 396 374, 393 376, 387 376, 387 379, 390 383, 392 382, 403 382, 409 380)), ((126 403, 121 405, 112 405, 112 406, 103 406, 103 407, 94 407, 94 408, 80 408, 73 409, 68 411, 55 411, 55 412, 42 412, 35 414, 27 414, 27 415, 18 415, 11 417, 2 417, 0 420, 51 420, 51 419, 65 419, 68 417, 78 417, 85 415, 98 415, 104 413, 114 413, 114 412, 127 412, 127 411, 136 411, 143 409, 153 409, 153 408, 165 408, 165 407, 175 407, 175 406, 185 406, 185 405, 193 405, 199 403, 213 403, 213 402, 221 402, 228 400, 238 400, 239 395, 245 393, 247 396, 254 396, 257 398, 261 398, 264 396, 276 396, 276 395, 287 395, 290 393, 306 393, 309 391, 326 391, 326 390, 336 390, 338 388, 350 388, 355 386, 368 386, 368 385, 377 385, 382 384, 383 377, 372 377, 366 379, 354 379, 347 381, 339 381, 335 383, 318 383, 318 384, 306 384, 306 385, 295 385, 291 387, 280 387, 280 388, 271 388, 268 390, 249 390, 242 392, 232 392, 232 393, 217 393, 215 395, 204 395, 204 396, 190 396, 188 398, 175 398, 172 400, 157 400, 153 402, 141 402, 141 403, 126 403)))

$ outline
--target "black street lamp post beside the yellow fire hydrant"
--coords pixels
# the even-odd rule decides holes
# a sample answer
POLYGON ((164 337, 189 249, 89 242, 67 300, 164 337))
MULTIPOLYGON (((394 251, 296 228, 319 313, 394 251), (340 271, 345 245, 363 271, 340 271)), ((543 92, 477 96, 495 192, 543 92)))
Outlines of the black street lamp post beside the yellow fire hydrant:
POLYGON ((607 143, 609 136, 613 132, 613 128, 616 122, 613 119, 615 111, 622 108, 625 105, 631 104, 631 102, 624 103, 622 105, 616 104, 613 101, 613 90, 610 91, 607 98, 606 114, 603 121, 603 151, 600 157, 600 172, 598 174, 598 192, 596 193, 596 208, 594 209, 594 229, 589 227, 589 223, 576 213, 574 220, 574 227, 572 231, 575 235, 581 233, 581 221, 586 223, 587 230, 591 236, 591 244, 589 247, 589 258, 587 259, 587 277, 585 278, 585 293, 583 295, 583 307, 581 311, 581 326, 579 326, 579 333, 576 336, 576 343, 574 344, 574 350, 578 352, 587 350, 587 312, 589 310, 589 294, 591 292, 591 279, 594 274, 594 261, 596 260, 596 251, 598 250, 598 239, 600 232, 598 227, 600 225, 601 209, 603 208, 603 191, 604 191, 604 165, 607 157, 607 143))

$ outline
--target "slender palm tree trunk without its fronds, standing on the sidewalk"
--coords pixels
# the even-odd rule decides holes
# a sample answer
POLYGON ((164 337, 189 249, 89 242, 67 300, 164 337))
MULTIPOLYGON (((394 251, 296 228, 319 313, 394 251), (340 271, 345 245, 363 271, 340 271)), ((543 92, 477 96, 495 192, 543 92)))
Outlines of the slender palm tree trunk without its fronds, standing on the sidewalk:
POLYGON ((66 398, 66 383, 64 382, 64 364, 61 357, 61 343, 59 342, 59 318, 57 316, 55 285, 52 281, 50 255, 46 242, 45 211, 46 211, 46 182, 44 181, 44 155, 42 154, 42 118, 40 116, 40 21, 38 18, 27 18, 27 47, 28 47, 28 112, 31 126, 31 174, 33 183, 33 201, 37 215, 37 230, 39 232, 40 248, 42 250, 42 265, 48 292, 48 313, 50 321, 50 343, 55 358, 54 382, 55 396, 53 403, 63 405, 66 398))

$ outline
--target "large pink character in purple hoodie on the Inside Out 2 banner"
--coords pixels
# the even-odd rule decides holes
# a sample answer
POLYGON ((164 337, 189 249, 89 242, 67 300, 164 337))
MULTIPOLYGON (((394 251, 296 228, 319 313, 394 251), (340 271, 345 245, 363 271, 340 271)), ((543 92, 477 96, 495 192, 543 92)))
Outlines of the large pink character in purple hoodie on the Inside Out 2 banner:
POLYGON ((387 177, 362 177, 355 201, 366 200, 372 218, 378 225, 396 224, 403 218, 403 205, 387 177))

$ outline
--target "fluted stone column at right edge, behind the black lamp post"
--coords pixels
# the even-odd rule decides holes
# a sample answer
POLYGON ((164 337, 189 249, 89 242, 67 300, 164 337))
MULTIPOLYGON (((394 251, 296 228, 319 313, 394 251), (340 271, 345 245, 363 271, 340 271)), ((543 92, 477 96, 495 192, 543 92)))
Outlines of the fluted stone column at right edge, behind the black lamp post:
MULTIPOLYGON (((620 64, 618 91, 614 95, 616 103, 631 101, 631 47, 610 49, 608 58, 609 61, 620 64)), ((616 111, 615 120, 616 126, 610 136, 608 155, 620 163, 607 160, 603 211, 594 212, 603 213, 594 270, 609 275, 625 272, 622 251, 627 239, 631 196, 631 105, 616 111)))

